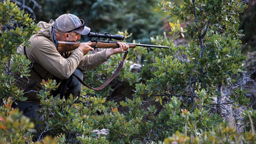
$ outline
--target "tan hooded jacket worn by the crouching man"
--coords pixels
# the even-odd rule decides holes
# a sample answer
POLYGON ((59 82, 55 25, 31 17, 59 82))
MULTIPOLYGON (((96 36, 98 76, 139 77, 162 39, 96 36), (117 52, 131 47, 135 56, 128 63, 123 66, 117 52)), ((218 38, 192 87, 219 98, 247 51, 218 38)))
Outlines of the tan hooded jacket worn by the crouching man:
MULTIPOLYGON (((97 52, 91 55, 83 54, 80 49, 69 52, 67 59, 63 58, 57 51, 55 44, 52 42, 52 27, 54 21, 51 20, 48 24, 46 22, 39 22, 37 27, 41 27, 38 31, 39 34, 35 34, 30 37, 30 48, 26 48, 26 54, 28 59, 33 64, 36 72, 44 78, 44 80, 52 79, 53 76, 59 79, 67 79, 76 68, 79 68, 82 72, 95 68, 107 61, 105 51, 97 52)), ((18 49, 17 52, 24 54, 23 46, 18 49)), ((31 68, 28 78, 23 76, 19 78, 20 74, 16 74, 16 85, 24 90, 24 96, 28 98, 27 102, 33 102, 40 100, 37 97, 35 91, 42 89, 42 79, 31 68), (31 92, 29 92, 31 91, 31 92)))

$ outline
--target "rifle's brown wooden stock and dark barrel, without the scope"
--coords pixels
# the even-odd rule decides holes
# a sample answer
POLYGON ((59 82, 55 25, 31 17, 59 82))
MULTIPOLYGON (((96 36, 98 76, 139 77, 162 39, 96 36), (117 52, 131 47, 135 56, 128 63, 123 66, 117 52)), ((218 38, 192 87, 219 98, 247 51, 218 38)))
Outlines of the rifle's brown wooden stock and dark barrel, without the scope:
MULTIPOLYGON (((119 48, 119 45, 116 43, 116 41, 101 41, 97 40, 94 42, 91 42, 91 47, 96 48, 119 48), (96 47, 96 46, 97 47, 96 47)), ((80 45, 80 42, 62 42, 58 41, 58 49, 57 51, 59 53, 69 52, 73 51, 80 45)), ((129 48, 135 48, 136 46, 143 46, 143 47, 156 47, 156 48, 170 48, 169 46, 158 46, 158 45, 148 45, 148 44, 134 44, 134 43, 126 43, 129 45, 129 48)))

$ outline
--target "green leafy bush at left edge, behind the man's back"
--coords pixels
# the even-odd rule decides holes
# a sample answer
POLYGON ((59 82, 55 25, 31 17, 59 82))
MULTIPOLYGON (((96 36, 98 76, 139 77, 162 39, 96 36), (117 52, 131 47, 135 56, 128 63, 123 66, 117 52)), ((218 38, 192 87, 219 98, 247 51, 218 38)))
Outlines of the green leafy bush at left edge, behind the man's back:
MULTIPOLYGON (((20 45, 29 45, 28 39, 38 28, 28 14, 20 11, 20 8, 10 1, 0 3, 0 99, 11 97, 12 100, 27 100, 15 85, 15 73, 20 77, 29 76, 28 65, 30 61, 17 49, 20 45)), ((17 77, 18 78, 18 77, 17 77)))

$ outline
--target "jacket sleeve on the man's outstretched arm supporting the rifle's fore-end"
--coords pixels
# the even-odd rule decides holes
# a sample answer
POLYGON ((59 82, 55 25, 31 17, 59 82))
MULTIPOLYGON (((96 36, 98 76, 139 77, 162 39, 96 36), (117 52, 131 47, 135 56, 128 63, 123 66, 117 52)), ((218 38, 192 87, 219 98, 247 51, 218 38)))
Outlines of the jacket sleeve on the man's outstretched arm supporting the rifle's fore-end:
POLYGON ((99 66, 107 60, 109 59, 106 58, 106 50, 96 52, 94 54, 85 55, 77 68, 79 68, 82 72, 85 72, 99 66))

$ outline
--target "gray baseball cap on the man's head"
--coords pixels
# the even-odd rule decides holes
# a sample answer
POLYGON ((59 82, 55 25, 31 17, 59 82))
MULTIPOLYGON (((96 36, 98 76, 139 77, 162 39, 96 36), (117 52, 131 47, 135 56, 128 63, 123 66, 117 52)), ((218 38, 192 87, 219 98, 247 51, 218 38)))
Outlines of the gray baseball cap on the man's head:
POLYGON ((90 28, 84 26, 84 20, 79 19, 73 14, 63 14, 54 21, 54 28, 61 32, 77 32, 81 35, 87 35, 90 28))

